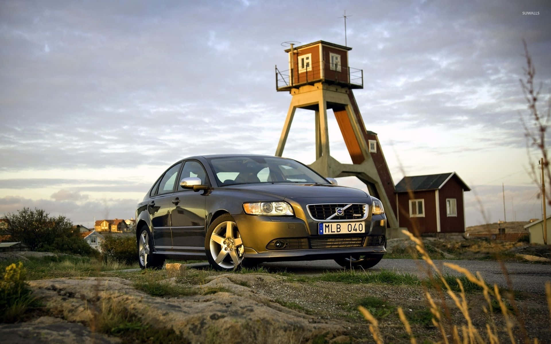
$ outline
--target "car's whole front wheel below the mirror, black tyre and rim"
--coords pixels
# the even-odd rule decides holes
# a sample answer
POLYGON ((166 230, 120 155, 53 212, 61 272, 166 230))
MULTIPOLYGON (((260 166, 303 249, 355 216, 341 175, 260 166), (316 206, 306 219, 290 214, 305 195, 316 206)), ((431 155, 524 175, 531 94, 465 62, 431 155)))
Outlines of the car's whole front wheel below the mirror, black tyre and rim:
POLYGON ((244 246, 239 228, 231 215, 217 217, 205 236, 205 253, 214 270, 231 271, 241 268, 244 246))

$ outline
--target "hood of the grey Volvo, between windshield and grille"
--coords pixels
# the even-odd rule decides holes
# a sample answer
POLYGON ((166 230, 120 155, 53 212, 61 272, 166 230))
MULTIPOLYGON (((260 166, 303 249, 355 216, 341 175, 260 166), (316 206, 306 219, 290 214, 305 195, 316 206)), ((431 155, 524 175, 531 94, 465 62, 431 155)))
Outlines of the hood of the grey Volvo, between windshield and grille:
POLYGON ((298 183, 260 183, 228 185, 226 188, 256 191, 264 194, 279 196, 284 199, 301 198, 337 198, 337 197, 366 197, 368 194, 359 189, 331 184, 298 184, 298 183))

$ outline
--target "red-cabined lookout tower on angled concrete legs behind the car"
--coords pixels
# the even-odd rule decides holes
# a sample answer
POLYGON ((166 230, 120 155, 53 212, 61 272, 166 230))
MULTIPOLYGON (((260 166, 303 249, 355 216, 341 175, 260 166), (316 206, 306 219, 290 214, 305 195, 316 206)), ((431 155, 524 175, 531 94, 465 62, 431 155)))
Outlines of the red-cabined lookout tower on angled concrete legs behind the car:
POLYGON ((369 193, 379 198, 390 227, 398 227, 395 188, 377 134, 366 130, 352 93, 363 89, 363 70, 349 67, 350 47, 317 41, 285 50, 289 69, 276 65, 277 91, 293 96, 276 150, 282 156, 297 108, 315 111, 316 161, 310 167, 325 177, 355 176, 369 193), (332 109, 348 148, 352 164, 340 163, 329 155, 327 110, 332 109))

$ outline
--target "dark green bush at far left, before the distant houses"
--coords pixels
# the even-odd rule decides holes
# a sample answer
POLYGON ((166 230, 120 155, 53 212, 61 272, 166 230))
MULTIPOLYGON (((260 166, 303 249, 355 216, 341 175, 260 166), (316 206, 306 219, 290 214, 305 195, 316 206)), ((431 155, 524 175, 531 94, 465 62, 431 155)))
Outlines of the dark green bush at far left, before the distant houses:
POLYGON ((0 230, 13 241, 23 242, 33 251, 94 255, 96 252, 73 230, 65 216, 52 217, 42 209, 23 208, 17 214, 6 215, 8 225, 0 230))

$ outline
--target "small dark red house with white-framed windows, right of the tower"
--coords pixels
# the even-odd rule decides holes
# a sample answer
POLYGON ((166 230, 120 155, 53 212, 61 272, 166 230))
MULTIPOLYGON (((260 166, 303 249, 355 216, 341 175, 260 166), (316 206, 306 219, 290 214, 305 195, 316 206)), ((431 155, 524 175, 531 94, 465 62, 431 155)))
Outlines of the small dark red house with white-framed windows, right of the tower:
POLYGON ((463 233, 463 192, 471 189, 455 172, 404 177, 396 184, 400 227, 423 233, 463 233))

